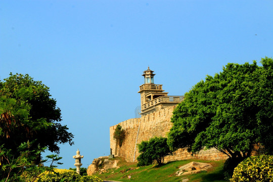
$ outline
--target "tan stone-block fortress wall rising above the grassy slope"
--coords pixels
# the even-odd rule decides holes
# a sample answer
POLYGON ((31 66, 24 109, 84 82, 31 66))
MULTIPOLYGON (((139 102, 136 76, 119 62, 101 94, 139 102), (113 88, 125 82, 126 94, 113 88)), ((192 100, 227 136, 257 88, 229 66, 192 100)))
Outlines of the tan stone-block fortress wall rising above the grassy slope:
MULTIPOLYGON (((154 136, 167 136, 172 127, 170 118, 175 106, 166 107, 151 114, 142 116, 141 118, 128 119, 120 122, 125 129, 125 140, 121 147, 117 141, 113 139, 116 126, 110 127, 110 148, 115 156, 124 157, 127 162, 136 162, 136 158, 140 155, 138 147, 142 141, 148 141, 154 136), (136 146, 136 147, 135 147, 136 146), (135 156, 134 156, 135 155, 135 156)), ((202 150, 198 154, 192 155, 186 149, 179 149, 173 155, 165 157, 164 161, 175 161, 185 159, 205 159, 205 160, 222 160, 228 158, 227 155, 216 149, 202 150)))

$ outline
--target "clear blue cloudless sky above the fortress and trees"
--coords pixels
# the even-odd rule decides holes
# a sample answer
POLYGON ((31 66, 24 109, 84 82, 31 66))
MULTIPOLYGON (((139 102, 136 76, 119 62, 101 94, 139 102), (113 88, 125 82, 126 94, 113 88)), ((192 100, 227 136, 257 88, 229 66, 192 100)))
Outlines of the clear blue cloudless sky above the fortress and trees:
POLYGON ((173 96, 229 62, 273 57, 271 0, 2 0, 0 27, 0 79, 49 86, 75 135, 59 168, 77 149, 82 167, 110 154, 109 127, 134 118, 148 66, 173 96))

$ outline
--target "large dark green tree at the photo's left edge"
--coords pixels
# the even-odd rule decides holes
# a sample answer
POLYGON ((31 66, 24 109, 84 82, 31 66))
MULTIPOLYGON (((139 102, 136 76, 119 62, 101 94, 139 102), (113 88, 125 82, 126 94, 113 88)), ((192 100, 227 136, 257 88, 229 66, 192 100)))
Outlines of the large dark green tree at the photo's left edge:
POLYGON ((0 80, 0 176, 7 174, 3 166, 9 160, 5 156, 19 159, 26 152, 36 157, 37 164, 40 149, 59 153, 58 144, 72 145, 73 134, 67 131, 66 125, 60 124, 61 120, 56 100, 41 81, 34 81, 28 74, 10 74, 9 78, 0 80), (25 143, 31 145, 18 151, 25 143), (5 151, 9 151, 9 155, 4 155, 5 151))

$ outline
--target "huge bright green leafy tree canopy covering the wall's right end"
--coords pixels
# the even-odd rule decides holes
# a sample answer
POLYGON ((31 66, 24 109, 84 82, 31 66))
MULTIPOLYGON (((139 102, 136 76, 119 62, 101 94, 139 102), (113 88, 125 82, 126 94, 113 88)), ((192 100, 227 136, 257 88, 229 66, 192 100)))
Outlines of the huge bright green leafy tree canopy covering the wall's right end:
POLYGON ((254 144, 273 149, 273 60, 229 63, 185 94, 173 111, 168 144, 198 152, 212 148, 246 158, 254 144))

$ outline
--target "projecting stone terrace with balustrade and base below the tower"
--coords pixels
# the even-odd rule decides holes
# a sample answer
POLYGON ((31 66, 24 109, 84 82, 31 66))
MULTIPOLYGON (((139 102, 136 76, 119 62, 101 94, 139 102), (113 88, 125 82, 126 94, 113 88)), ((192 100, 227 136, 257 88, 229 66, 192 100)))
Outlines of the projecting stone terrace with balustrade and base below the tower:
POLYGON ((141 112, 142 115, 146 115, 156 110, 159 110, 161 107, 174 106, 182 101, 184 101, 184 96, 161 96, 143 104, 141 106, 141 112))

